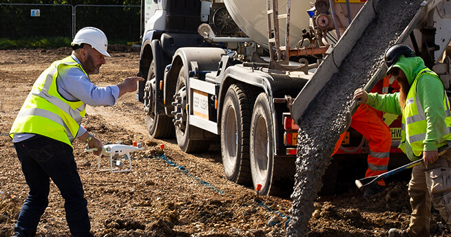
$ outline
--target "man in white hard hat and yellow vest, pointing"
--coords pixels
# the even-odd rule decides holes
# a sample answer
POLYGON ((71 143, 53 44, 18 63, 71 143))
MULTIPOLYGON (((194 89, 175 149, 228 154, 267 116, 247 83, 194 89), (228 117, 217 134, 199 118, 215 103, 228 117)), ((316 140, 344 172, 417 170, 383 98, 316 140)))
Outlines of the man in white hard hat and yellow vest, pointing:
POLYGON ((112 106, 118 98, 137 89, 143 78, 126 78, 109 87, 97 87, 90 74, 105 64, 107 37, 101 30, 85 27, 72 42, 72 55, 52 63, 34 82, 10 131, 21 162, 28 198, 14 226, 14 236, 34 236, 48 206, 50 179, 65 199, 67 225, 72 236, 93 236, 83 186, 76 170, 72 142, 75 138, 97 148, 103 143, 88 133, 81 120, 85 106, 112 106))

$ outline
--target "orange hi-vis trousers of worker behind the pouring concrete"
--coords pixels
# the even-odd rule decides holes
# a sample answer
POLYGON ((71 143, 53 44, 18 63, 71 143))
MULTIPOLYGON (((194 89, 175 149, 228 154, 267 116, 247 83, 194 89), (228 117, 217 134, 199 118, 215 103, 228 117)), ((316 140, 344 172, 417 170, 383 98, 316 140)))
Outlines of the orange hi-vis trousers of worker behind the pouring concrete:
MULTIPOLYGON (((390 147, 392 144, 392 135, 390 128, 384 123, 374 109, 368 104, 361 104, 355 111, 350 127, 359 132, 368 140, 370 152, 368 153, 368 169, 365 177, 371 177, 383 174, 388 170, 388 160, 390 159, 390 147)), ((335 154, 342 144, 345 133, 335 144, 335 154)), ((385 185, 383 180, 378 181, 379 185, 385 185)))

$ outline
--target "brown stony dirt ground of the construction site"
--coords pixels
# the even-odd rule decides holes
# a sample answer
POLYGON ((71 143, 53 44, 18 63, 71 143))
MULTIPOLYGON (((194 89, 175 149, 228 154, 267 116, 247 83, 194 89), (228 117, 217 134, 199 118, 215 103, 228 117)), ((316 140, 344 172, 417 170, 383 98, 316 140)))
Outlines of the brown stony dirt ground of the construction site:
MULTIPOLYGON (((0 50, 0 236, 12 236, 28 194, 8 132, 34 80, 70 52, 69 48, 0 50)), ((99 86, 118 84, 138 71, 138 50, 116 47, 110 52, 112 58, 107 58, 101 73, 92 76, 99 86)), ((85 144, 74 142, 94 236, 284 236, 291 200, 260 196, 257 201, 252 188, 227 181, 218 144, 208 153, 189 155, 180 152, 175 139, 150 139, 134 93, 112 107, 88 106, 83 126, 105 144, 143 144, 143 150, 132 153, 131 171, 113 173, 99 172, 98 157, 83 152, 85 144)), ((102 161, 101 166, 109 164, 102 161)), ((320 196, 309 236, 386 236, 392 227, 408 227, 407 181, 387 183, 384 192, 370 199, 362 199, 353 181, 344 192, 320 196)), ((64 200, 53 183, 49 201, 37 236, 70 236, 64 200)), ((431 236, 451 236, 436 210, 431 236)))

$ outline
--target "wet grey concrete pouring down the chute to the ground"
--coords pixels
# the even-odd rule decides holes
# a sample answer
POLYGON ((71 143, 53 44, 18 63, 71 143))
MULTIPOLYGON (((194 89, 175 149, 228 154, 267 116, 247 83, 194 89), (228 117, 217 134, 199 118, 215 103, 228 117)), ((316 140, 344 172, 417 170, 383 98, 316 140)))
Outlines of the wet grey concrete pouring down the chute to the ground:
POLYGON ((326 164, 331 161, 339 131, 346 126, 353 92, 364 87, 384 63, 385 50, 395 43, 420 8, 421 0, 381 1, 376 20, 370 24, 340 66, 339 74, 319 95, 300 125, 297 172, 291 196, 291 220, 287 236, 306 236, 313 202, 322 187, 326 164))

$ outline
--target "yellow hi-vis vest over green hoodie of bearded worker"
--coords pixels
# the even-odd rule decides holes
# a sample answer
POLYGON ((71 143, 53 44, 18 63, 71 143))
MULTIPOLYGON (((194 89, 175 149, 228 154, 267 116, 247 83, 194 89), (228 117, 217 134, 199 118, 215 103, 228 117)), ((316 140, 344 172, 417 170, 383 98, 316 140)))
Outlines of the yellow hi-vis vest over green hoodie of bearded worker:
MULTIPOLYGON (((417 82, 422 74, 430 74, 437 77, 437 80, 440 80, 439 76, 437 76, 434 71, 430 71, 430 69, 423 69, 419 72, 414 82, 412 83, 412 86, 410 87, 410 91, 406 98, 406 106, 404 107, 402 114, 402 130, 404 131, 404 133, 401 133, 401 144, 399 145, 399 148, 401 148, 401 150, 406 153, 409 159, 414 158, 412 155, 415 155, 415 157, 417 158, 421 158, 420 156, 423 153, 423 140, 426 138, 426 115, 424 114, 423 108, 421 107, 417 95, 417 82), (406 140, 410 144, 412 150, 406 149, 406 140)), ((446 114, 446 129, 441 143, 437 144, 437 148, 446 146, 447 143, 451 140, 450 102, 448 101, 448 96, 446 95, 445 91, 443 91, 443 93, 443 107, 445 108, 446 114)))

